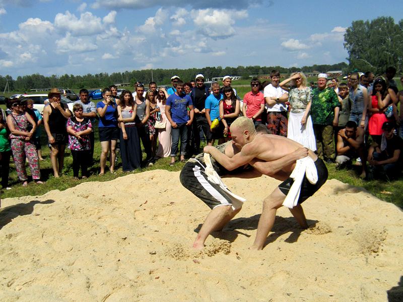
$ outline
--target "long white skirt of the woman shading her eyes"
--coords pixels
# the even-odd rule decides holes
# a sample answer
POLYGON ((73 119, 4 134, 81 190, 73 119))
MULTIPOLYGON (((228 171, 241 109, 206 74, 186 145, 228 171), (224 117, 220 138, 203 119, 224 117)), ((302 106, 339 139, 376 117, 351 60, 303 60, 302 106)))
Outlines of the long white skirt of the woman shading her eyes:
POLYGON ((315 134, 313 133, 313 125, 311 116, 308 115, 305 125, 301 125, 302 117, 305 112, 290 112, 288 117, 287 137, 302 144, 304 147, 316 150, 315 134))

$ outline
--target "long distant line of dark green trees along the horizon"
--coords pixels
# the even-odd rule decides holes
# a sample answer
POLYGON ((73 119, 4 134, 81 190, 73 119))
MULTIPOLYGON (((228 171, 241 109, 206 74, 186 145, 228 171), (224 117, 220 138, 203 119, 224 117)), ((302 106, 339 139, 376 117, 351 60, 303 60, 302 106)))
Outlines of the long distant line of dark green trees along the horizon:
POLYGON ((86 75, 51 75, 45 77, 42 74, 34 73, 31 75, 18 76, 14 80, 10 75, 5 77, 0 75, 0 90, 4 91, 6 83, 11 91, 29 91, 30 89, 40 88, 102 88, 111 84, 129 83, 131 86, 136 81, 142 83, 150 83, 152 80, 158 84, 169 84, 172 75, 178 75, 185 81, 194 79, 194 76, 198 73, 203 73, 206 79, 212 79, 215 77, 223 77, 224 75, 237 75, 242 79, 249 79, 250 75, 264 75, 270 74, 273 69, 280 70, 281 73, 290 73, 302 70, 309 73, 314 70, 319 72, 326 72, 329 70, 347 70, 348 65, 345 62, 341 62, 333 65, 312 65, 301 67, 285 68, 281 66, 238 66, 238 67, 203 67, 203 68, 188 68, 188 69, 144 69, 144 70, 132 70, 124 72, 113 72, 108 74, 106 72, 86 75))

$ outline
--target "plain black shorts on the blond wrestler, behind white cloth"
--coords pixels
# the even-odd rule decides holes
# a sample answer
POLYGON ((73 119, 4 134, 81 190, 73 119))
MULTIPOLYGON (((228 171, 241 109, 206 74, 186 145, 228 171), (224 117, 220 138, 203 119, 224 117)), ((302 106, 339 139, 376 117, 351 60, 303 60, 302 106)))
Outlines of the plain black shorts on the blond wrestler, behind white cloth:
MULTIPOLYGON (((321 159, 318 158, 315 161, 315 167, 318 173, 318 181, 316 184, 312 185, 306 178, 306 175, 304 176, 301 184, 301 193, 298 198, 298 204, 304 202, 306 199, 308 199, 308 197, 311 197, 327 180, 327 168, 321 159)), ((287 195, 293 183, 294 180, 292 178, 286 179, 279 185, 280 191, 287 195)))

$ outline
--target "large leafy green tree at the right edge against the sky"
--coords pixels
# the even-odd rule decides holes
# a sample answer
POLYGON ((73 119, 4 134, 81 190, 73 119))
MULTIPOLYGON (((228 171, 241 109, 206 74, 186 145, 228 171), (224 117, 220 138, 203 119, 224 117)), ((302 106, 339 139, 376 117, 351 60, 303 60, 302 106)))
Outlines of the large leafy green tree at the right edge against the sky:
POLYGON ((378 74, 387 66, 402 70, 403 20, 398 24, 392 17, 353 21, 346 30, 344 41, 350 69, 370 70, 378 74))

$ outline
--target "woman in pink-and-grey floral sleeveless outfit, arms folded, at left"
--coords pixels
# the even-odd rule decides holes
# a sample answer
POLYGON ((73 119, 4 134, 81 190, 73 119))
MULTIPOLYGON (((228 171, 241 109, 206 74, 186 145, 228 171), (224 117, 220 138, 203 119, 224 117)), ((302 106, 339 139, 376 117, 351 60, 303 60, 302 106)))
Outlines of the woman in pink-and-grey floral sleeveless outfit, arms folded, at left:
POLYGON ((20 181, 22 181, 22 186, 26 187, 28 185, 28 176, 25 169, 25 159, 28 159, 32 179, 37 184, 43 184, 40 180, 38 154, 33 143, 36 123, 27 112, 22 111, 20 105, 21 102, 14 101, 11 106, 12 113, 7 116, 7 125, 11 131, 11 149, 17 175, 20 181), (31 131, 28 131, 28 123, 32 125, 31 131))

